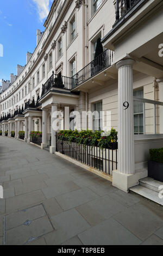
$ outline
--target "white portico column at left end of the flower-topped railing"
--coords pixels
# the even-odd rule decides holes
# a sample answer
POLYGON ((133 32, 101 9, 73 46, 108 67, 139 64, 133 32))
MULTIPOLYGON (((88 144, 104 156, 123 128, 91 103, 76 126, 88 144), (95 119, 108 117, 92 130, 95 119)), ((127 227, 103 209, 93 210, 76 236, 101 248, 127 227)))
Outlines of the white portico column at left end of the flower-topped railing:
POLYGON ((54 124, 55 120, 57 119, 57 104, 52 104, 52 113, 51 113, 51 123, 52 123, 52 128, 51 128, 51 147, 49 152, 51 154, 54 154, 54 152, 56 151, 56 132, 57 132, 57 127, 55 127, 56 125, 54 124))

